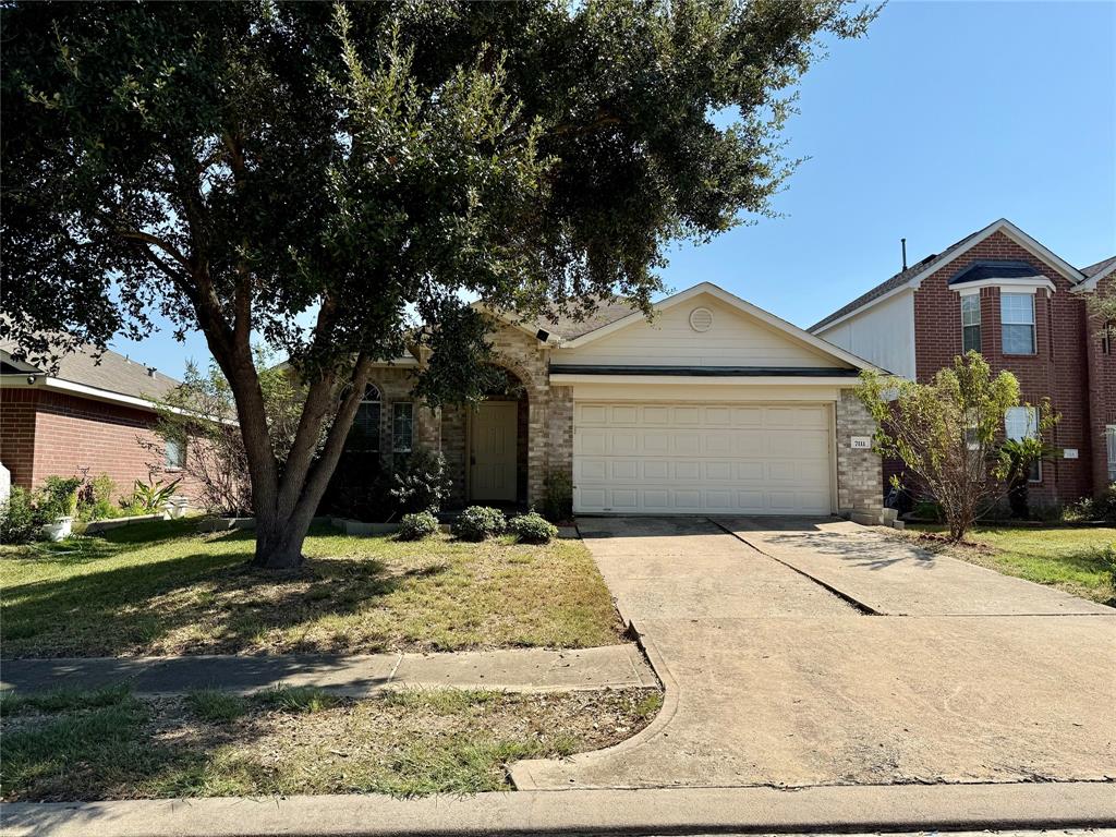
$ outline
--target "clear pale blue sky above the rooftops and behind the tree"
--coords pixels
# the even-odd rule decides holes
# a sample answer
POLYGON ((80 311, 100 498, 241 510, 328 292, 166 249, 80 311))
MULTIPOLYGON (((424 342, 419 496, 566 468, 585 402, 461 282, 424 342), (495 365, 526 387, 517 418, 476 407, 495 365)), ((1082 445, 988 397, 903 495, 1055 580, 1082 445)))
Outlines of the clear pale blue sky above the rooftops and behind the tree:
MULTIPOLYGON (((667 285, 712 281, 799 326, 998 218, 1072 264, 1116 253, 1116 3, 903 2, 838 41, 786 129, 808 156, 783 213, 673 249, 667 285)), ((114 347, 181 375, 204 339, 114 347)))

